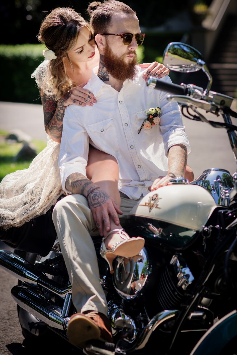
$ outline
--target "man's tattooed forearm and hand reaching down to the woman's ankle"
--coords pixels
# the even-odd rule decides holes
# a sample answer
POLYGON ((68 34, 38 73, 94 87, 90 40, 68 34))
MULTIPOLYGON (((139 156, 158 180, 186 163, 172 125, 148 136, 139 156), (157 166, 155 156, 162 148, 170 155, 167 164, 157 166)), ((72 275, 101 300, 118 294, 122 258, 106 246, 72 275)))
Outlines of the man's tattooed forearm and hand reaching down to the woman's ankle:
POLYGON ((83 195, 87 198, 90 210, 101 236, 104 228, 110 230, 110 217, 119 224, 118 214, 122 214, 117 203, 97 184, 81 173, 73 173, 66 179, 66 189, 72 194, 83 195))

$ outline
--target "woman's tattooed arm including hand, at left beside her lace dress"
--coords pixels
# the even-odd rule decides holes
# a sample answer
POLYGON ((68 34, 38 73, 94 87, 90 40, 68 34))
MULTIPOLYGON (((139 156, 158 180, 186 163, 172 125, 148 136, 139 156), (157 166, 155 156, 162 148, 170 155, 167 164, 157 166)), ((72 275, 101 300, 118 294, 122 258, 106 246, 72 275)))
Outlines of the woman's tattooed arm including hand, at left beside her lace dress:
POLYGON ((41 101, 44 112, 44 127, 46 133, 53 141, 60 143, 62 136, 62 121, 64 119, 65 108, 70 104, 78 106, 93 106, 97 102, 92 92, 83 89, 83 83, 70 92, 66 93, 60 100, 48 99, 43 90, 40 90, 41 101))

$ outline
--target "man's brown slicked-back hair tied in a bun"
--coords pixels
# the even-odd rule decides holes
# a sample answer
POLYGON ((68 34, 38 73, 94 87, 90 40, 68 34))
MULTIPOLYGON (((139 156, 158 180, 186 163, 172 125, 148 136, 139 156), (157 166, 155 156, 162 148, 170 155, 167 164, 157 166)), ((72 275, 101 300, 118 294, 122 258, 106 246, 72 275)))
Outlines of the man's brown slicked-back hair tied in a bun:
POLYGON ((89 4, 87 13, 90 16, 90 24, 93 27, 94 35, 106 33, 115 13, 122 12, 136 15, 130 6, 121 1, 108 0, 105 2, 93 1, 89 4))

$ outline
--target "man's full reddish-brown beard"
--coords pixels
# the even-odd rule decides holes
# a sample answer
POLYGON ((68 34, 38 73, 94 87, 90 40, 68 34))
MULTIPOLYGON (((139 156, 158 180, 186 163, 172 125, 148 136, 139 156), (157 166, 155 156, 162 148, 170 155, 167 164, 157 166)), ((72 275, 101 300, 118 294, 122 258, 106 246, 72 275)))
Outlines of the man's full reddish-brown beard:
POLYGON ((108 43, 105 45, 103 64, 109 74, 117 80, 125 81, 126 79, 133 80, 137 75, 137 53, 136 51, 131 51, 129 54, 134 54, 134 57, 129 63, 125 62, 125 57, 116 56, 112 53, 108 43))

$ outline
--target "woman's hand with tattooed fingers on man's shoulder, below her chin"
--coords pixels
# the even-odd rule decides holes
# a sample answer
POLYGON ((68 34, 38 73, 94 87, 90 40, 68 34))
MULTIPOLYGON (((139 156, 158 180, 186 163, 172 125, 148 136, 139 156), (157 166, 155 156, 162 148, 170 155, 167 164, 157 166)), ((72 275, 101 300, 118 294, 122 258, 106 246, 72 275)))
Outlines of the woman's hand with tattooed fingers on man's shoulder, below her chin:
POLYGON ((87 83, 88 81, 71 89, 61 98, 61 103, 65 107, 71 104, 78 106, 93 106, 97 103, 93 93, 83 88, 87 83))

